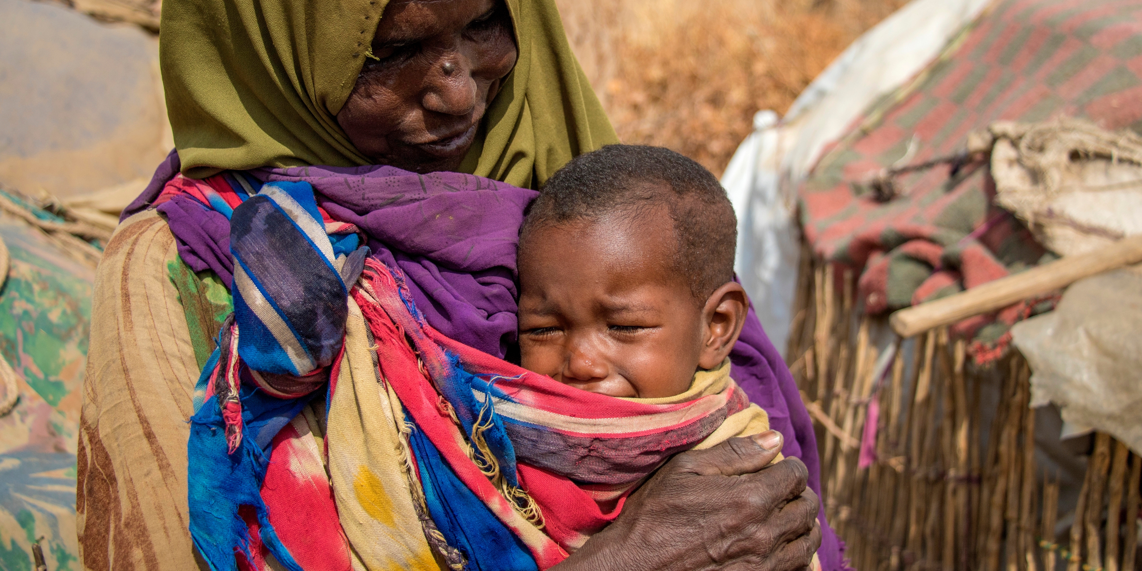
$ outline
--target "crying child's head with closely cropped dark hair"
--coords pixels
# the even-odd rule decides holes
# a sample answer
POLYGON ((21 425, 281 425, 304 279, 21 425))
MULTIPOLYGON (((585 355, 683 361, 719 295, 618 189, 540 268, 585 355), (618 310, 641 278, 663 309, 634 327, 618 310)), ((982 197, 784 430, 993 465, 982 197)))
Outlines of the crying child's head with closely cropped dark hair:
POLYGON ((609 145, 576 158, 521 231, 521 364, 611 396, 686 392, 745 324, 737 225, 714 175, 678 153, 609 145))

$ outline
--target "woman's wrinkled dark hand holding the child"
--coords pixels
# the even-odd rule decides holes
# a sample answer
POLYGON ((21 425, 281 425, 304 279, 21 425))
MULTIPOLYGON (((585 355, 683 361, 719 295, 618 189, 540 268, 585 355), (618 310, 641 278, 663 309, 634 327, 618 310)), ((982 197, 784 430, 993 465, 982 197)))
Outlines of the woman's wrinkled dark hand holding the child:
POLYGON ((557 571, 765 570, 807 566, 821 544, 818 498, 770 431, 674 457, 622 514, 557 571))

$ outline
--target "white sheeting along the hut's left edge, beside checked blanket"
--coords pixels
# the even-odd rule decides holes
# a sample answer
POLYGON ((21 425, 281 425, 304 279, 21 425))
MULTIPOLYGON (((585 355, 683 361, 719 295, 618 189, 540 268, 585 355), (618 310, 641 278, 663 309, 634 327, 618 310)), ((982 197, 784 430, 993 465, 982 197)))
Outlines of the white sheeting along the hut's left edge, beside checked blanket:
POLYGON ((879 23, 797 97, 786 116, 761 111, 722 177, 738 214, 735 270, 773 344, 789 335, 799 246, 797 186, 872 103, 914 78, 990 0, 914 0, 879 23))

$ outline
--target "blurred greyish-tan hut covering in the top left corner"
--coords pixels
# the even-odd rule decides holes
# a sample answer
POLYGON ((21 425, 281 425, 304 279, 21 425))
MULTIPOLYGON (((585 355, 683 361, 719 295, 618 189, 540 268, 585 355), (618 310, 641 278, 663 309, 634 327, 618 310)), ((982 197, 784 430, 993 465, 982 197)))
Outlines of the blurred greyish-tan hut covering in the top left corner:
POLYGON ((59 198, 145 185, 174 146, 159 41, 65 3, 0 0, 0 183, 59 198))

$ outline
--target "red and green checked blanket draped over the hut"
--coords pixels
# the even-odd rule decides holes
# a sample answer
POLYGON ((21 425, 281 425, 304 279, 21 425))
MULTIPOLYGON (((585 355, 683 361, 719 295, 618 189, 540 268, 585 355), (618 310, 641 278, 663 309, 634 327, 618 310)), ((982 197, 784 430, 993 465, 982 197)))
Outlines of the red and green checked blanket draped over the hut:
MULTIPOLYGON (((801 188, 815 252, 860 275, 869 313, 899 309, 1053 259, 1014 217, 991 204, 986 164, 895 178, 876 202, 870 175, 951 155, 997 120, 1057 115, 1104 128, 1142 126, 1142 5, 1108 0, 999 0, 974 29, 901 91, 875 104, 801 188)), ((838 273, 839 274, 839 273, 838 273)), ((1018 320, 1052 307, 1032 299, 957 324, 976 361, 998 357, 1018 320)))

